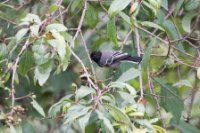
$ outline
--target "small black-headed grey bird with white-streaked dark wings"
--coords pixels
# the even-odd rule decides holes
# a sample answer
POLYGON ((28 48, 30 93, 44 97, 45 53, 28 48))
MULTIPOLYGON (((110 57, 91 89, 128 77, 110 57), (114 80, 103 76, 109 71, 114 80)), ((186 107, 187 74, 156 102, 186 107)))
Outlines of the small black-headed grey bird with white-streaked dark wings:
POLYGON ((142 57, 131 56, 128 53, 119 51, 94 51, 90 54, 90 57, 100 67, 111 68, 117 68, 122 61, 139 64, 142 60, 142 57))

